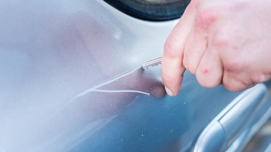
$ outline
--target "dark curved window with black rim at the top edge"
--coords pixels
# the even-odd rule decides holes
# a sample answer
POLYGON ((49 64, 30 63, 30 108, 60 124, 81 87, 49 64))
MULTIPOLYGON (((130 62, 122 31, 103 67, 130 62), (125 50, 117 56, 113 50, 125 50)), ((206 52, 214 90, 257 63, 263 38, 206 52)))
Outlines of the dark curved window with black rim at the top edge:
POLYGON ((191 0, 106 0, 127 14, 150 20, 179 18, 191 0))

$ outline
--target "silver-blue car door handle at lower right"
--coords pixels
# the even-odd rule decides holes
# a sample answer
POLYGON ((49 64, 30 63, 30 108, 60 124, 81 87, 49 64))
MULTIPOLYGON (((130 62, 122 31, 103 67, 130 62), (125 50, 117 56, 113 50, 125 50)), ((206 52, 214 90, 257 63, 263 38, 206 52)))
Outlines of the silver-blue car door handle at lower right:
POLYGON ((264 84, 258 84, 241 93, 200 133, 192 151, 226 151, 238 137, 246 138, 247 132, 252 128, 252 118, 267 97, 268 90, 264 84))

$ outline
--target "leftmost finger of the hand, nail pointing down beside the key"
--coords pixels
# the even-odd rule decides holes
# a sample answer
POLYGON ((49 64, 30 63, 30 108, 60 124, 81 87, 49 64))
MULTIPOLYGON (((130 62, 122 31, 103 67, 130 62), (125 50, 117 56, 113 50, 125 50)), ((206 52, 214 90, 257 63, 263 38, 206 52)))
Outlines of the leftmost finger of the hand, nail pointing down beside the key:
POLYGON ((194 22, 196 6, 196 1, 192 1, 187 6, 164 45, 161 76, 166 92, 170 96, 176 96, 180 92, 185 71, 183 66, 184 45, 194 22))

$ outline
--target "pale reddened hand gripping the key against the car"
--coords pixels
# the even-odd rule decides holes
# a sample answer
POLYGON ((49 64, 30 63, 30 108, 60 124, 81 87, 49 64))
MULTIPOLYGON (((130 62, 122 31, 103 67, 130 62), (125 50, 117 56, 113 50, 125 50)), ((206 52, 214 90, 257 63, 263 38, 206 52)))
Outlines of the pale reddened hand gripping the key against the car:
POLYGON ((185 70, 205 88, 240 92, 271 78, 271 1, 192 0, 164 45, 162 80, 179 94, 185 70))

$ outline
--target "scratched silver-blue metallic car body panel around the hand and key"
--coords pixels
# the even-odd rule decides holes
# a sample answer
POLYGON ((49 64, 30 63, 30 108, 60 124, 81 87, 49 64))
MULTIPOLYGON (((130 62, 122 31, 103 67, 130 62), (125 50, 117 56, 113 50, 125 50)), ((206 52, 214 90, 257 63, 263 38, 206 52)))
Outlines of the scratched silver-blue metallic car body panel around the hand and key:
POLYGON ((184 151, 238 93, 205 89, 189 72, 165 95, 162 55, 177 20, 151 22, 103 1, 0 1, 0 151, 184 151))

